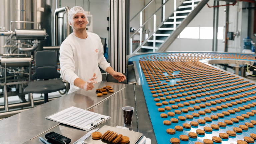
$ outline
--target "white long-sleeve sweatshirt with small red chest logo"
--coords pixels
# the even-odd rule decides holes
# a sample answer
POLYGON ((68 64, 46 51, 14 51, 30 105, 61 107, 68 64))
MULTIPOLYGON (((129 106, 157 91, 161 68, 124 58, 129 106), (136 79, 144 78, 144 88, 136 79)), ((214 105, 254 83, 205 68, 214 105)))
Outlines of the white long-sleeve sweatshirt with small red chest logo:
POLYGON ((70 34, 60 46, 60 73, 70 83, 70 91, 79 88, 74 80, 88 81, 96 73, 95 81, 102 81, 99 66, 105 71, 110 65, 103 56, 103 46, 97 34, 87 32, 87 38, 81 39, 70 34))

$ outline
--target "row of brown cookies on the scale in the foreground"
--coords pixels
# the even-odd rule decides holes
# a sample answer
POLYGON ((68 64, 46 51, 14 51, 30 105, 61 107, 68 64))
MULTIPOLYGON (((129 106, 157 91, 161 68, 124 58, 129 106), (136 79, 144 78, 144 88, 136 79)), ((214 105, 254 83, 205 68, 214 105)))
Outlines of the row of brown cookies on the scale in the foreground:
POLYGON ((112 142, 114 144, 127 144, 130 142, 130 138, 127 136, 123 136, 122 134, 117 134, 114 131, 107 130, 103 135, 100 132, 93 132, 91 134, 92 139, 102 139, 103 141, 112 142))

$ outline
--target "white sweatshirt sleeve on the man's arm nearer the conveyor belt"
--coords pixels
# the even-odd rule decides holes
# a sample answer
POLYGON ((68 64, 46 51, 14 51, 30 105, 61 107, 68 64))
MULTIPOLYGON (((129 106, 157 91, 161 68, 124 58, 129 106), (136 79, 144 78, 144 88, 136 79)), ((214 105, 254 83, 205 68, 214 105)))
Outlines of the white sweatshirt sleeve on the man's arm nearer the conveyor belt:
POLYGON ((104 50, 103 50, 103 45, 101 43, 100 37, 98 37, 98 65, 100 66, 101 69, 103 69, 104 71, 106 71, 106 69, 108 67, 110 67, 110 64, 107 62, 106 58, 104 57, 104 50))

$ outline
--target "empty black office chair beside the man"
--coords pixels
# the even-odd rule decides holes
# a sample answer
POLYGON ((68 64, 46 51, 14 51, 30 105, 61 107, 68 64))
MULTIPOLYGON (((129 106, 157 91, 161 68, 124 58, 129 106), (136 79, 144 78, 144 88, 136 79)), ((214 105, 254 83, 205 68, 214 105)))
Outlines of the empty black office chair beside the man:
POLYGON ((44 94, 44 102, 48 102, 48 93, 63 90, 66 86, 57 71, 57 57, 55 51, 37 51, 35 59, 35 73, 31 81, 24 89, 25 93, 44 94), (51 79, 51 80, 48 80, 51 79))

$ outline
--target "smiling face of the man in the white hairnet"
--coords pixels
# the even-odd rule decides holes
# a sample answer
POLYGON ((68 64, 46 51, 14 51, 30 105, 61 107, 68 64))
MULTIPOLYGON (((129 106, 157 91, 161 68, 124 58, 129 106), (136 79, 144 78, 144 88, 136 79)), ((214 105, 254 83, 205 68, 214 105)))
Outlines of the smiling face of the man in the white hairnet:
POLYGON ((74 30, 83 31, 86 29, 87 23, 85 15, 78 13, 74 15, 71 25, 74 30))

